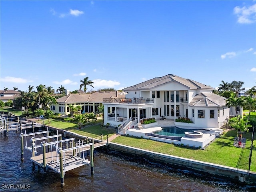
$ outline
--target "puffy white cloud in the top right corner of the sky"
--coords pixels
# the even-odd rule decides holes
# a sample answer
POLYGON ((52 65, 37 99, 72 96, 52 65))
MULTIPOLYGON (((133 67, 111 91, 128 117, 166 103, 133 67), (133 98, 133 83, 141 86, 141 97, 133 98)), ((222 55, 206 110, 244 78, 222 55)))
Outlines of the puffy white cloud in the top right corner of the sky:
POLYGON ((252 6, 234 8, 234 14, 238 17, 237 22, 241 24, 250 24, 256 22, 256 4, 252 6))

